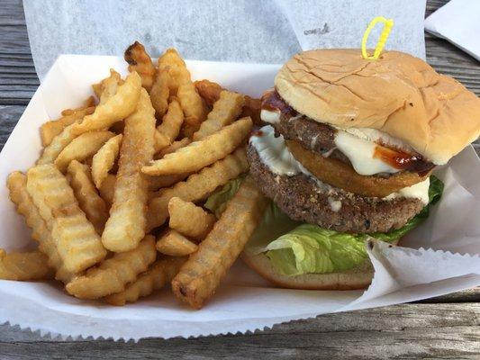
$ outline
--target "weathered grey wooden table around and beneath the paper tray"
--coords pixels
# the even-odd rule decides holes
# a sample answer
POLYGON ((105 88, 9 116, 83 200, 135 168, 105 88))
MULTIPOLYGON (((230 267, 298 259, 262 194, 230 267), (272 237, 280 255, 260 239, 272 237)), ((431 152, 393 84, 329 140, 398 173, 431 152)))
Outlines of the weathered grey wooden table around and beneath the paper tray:
MULTIPOLYGON (((429 0, 427 15, 444 4, 429 0)), ((427 59, 480 95, 480 64, 425 34, 427 59)), ((21 0, 0 2, 0 147, 30 101, 39 80, 21 0)), ((480 145, 475 145, 480 152, 480 145)), ((1 304, 0 304, 1 306, 1 304)), ((422 302, 292 321, 249 335, 170 339, 139 344, 61 340, 0 325, 0 358, 480 358, 480 291, 422 302)))

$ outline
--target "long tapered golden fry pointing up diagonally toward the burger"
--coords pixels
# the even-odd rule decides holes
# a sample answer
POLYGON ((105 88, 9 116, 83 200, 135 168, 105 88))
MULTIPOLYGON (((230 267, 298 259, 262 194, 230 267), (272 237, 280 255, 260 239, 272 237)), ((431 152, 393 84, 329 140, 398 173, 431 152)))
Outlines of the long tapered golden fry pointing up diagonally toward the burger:
POLYGON ((237 148, 251 129, 250 118, 242 118, 212 135, 155 160, 141 171, 147 175, 185 174, 198 171, 220 160, 237 148))

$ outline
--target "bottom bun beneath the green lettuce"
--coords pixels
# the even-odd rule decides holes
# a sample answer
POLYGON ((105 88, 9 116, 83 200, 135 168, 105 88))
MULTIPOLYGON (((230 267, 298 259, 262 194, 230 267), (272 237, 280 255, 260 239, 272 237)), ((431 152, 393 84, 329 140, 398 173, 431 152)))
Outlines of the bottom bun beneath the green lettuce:
MULTIPOLYGON (((395 241, 396 244, 398 241, 395 241)), ((264 254, 252 255, 244 251, 241 259, 258 275, 287 289, 303 290, 358 290, 372 282, 374 268, 370 259, 347 271, 329 274, 288 276, 279 273, 264 254)))

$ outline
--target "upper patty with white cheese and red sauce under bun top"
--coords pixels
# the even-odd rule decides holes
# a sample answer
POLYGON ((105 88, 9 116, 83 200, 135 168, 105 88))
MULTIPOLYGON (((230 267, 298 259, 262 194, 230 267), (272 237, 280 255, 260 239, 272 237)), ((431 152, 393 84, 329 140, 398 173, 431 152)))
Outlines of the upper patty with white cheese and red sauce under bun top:
POLYGON ((274 125, 285 139, 299 140, 305 148, 324 157, 351 163, 359 175, 388 176, 401 171, 426 175, 434 167, 409 145, 383 131, 340 129, 313 121, 295 112, 275 90, 262 96, 260 117, 274 125))

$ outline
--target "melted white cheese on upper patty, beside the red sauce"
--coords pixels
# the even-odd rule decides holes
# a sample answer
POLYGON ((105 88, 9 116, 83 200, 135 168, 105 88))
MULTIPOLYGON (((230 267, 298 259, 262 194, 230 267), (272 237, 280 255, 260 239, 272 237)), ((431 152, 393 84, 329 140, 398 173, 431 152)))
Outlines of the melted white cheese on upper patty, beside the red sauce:
POLYGON ((360 175, 394 174, 400 171, 374 157, 376 143, 373 141, 360 139, 346 131, 337 130, 334 142, 335 146, 349 157, 351 165, 360 175))

